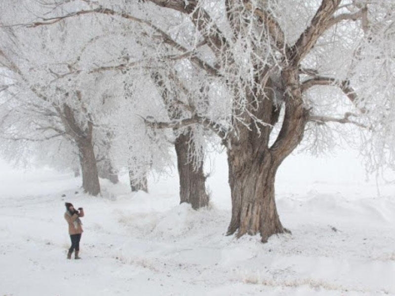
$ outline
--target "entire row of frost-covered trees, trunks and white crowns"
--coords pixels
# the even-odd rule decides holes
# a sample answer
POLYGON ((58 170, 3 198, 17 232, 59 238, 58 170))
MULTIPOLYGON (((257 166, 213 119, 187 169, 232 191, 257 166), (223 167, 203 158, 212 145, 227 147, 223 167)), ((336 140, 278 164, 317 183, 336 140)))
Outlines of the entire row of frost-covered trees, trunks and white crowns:
POLYGON ((368 169, 394 153, 395 4, 374 0, 1 2, 3 154, 37 155, 134 189, 172 164, 207 206, 206 145, 227 151, 228 234, 287 231, 281 162, 360 137, 368 169), (350 128, 353 126, 353 129, 350 128), (360 133, 355 133, 355 127, 360 133), (351 132, 350 132, 351 131, 351 132))

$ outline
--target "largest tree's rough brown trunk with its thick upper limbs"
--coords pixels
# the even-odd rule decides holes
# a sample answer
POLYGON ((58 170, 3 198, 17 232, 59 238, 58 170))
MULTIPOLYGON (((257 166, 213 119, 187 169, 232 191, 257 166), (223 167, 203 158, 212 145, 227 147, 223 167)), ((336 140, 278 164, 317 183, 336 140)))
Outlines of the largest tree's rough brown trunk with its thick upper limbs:
MULTIPOLYGON (((256 6, 250 0, 226 0, 224 12, 228 19, 227 30, 231 29, 228 31, 233 32, 230 39, 229 32, 224 34, 221 30, 223 24, 217 26, 210 13, 200 5, 200 1, 187 1, 187 3, 184 0, 150 1, 159 7, 178 11, 191 20, 205 44, 211 49, 213 56, 216 56, 213 65, 226 63, 226 66, 231 66, 232 71, 232 66, 236 66, 235 69, 240 68, 238 65, 233 65, 239 60, 238 57, 236 58, 238 52, 233 48, 234 40, 245 40, 244 44, 253 44, 251 49, 259 57, 252 61, 253 69, 252 67, 248 69, 247 66, 247 72, 242 69, 241 72, 235 70, 235 73, 231 72, 229 76, 224 75, 224 84, 230 86, 230 93, 236 94, 232 100, 231 133, 224 134, 221 128, 218 129, 221 125, 219 122, 211 125, 228 149, 229 184, 233 206, 228 234, 237 231, 237 236, 240 237, 245 233, 254 235, 259 232, 262 241, 266 241, 270 235, 284 232, 275 203, 276 170, 303 138, 305 125, 309 120, 309 110, 303 107, 303 92, 310 87, 309 85, 333 85, 336 81, 334 78, 320 76, 316 69, 307 73, 313 78, 306 80, 304 77, 306 73, 303 74, 301 71, 306 65, 302 66, 302 63, 315 47, 317 40, 340 21, 347 18, 361 19, 363 23, 363 20, 366 20, 367 7, 365 6, 358 14, 346 13, 342 15, 343 17, 339 17, 341 0, 320 0, 317 2, 319 7, 310 24, 294 43, 288 43, 291 40, 286 38, 280 19, 268 9, 270 5, 256 6), (251 18, 252 15, 254 17, 251 18), (250 22, 241 21, 245 17, 248 17, 250 22), (261 27, 265 28, 265 31, 260 31, 261 27), (254 31, 256 29, 258 31, 254 31), (273 50, 271 54, 275 63, 271 64, 271 58, 267 61, 261 60, 262 48, 269 49, 269 52, 273 50), (249 81, 246 76, 252 73, 254 81, 249 81), (233 74, 236 74, 235 80, 233 74), (276 83, 272 84, 272 79, 276 80, 276 83), (250 85, 245 84, 247 81, 250 85), (243 97, 245 95, 243 98, 245 100, 242 100, 241 104, 240 94, 243 97), (276 136, 276 140, 270 146, 272 127, 279 123, 279 111, 277 111, 279 106, 285 108, 284 118, 280 123, 280 132, 278 135, 273 135, 276 136), (232 134, 233 131, 237 132, 236 136, 232 134)), ((366 28, 363 24, 362 27, 366 28)), ((166 36, 164 40, 170 41, 168 44, 174 46, 176 41, 169 35, 164 34, 164 36, 166 36)), ((182 52, 187 52, 187 49, 182 52)), ((221 71, 218 73, 216 68, 208 66, 204 59, 193 56, 190 61, 209 75, 222 76, 221 71)), ((352 97, 351 101, 354 102, 353 91, 349 91, 350 89, 343 83, 341 88, 347 96, 352 97)), ((190 119, 200 120, 197 115, 190 119)), ((211 122, 210 118, 206 119, 203 122, 211 122)))

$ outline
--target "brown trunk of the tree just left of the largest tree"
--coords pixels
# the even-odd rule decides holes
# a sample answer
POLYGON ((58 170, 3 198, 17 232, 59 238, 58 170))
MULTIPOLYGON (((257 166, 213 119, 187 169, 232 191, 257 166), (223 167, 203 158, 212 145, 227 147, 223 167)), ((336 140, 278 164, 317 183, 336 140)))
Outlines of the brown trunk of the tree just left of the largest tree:
POLYGON ((208 206, 209 197, 205 188, 203 162, 190 161, 189 145, 193 145, 192 132, 178 136, 175 143, 177 167, 180 178, 180 203, 187 202, 194 209, 208 206), (191 144, 192 143, 192 144, 191 144))

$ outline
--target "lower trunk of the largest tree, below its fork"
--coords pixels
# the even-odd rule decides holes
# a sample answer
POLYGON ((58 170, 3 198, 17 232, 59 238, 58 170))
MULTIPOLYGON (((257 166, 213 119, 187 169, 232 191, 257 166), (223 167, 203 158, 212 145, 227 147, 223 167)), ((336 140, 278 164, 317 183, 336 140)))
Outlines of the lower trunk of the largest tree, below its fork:
POLYGON ((260 155, 261 158, 250 155, 246 159, 246 156, 239 149, 228 150, 232 196, 232 219, 228 234, 237 230, 237 237, 245 233, 260 233, 262 241, 266 242, 272 234, 287 231, 276 209, 276 167, 269 151, 266 155, 260 155))

